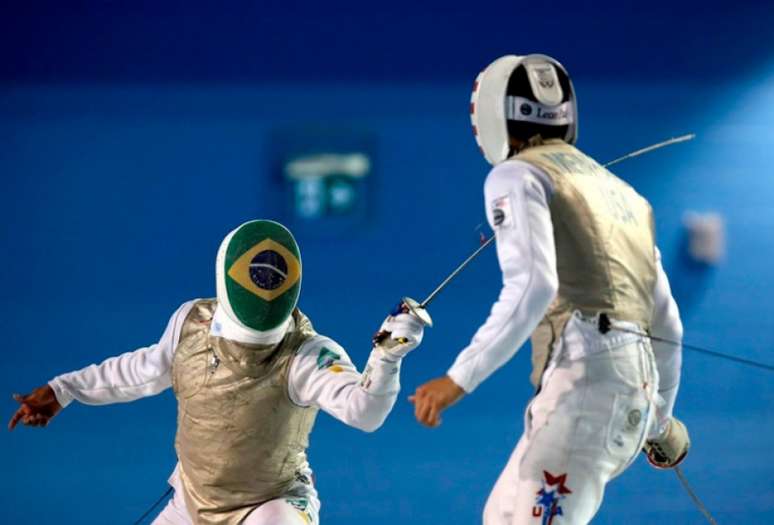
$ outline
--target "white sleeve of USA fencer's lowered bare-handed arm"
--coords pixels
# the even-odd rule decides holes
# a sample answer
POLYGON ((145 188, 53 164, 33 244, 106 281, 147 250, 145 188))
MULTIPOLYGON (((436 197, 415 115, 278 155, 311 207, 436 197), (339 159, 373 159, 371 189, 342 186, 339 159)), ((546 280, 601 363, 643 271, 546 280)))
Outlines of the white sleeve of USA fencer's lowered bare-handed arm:
POLYGON ((521 161, 499 164, 487 177, 487 220, 497 236, 503 287, 488 319, 447 372, 468 393, 513 357, 556 296, 552 192, 548 176, 521 161))

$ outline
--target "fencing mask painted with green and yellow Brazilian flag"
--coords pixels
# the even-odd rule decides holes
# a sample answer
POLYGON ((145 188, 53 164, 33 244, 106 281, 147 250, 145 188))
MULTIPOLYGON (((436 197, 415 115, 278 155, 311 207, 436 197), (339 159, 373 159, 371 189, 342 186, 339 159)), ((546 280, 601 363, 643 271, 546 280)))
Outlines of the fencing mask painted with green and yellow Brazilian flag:
POLYGON ((231 232, 217 270, 218 301, 247 328, 276 328, 298 303, 301 254, 293 235, 277 222, 250 221, 231 232))

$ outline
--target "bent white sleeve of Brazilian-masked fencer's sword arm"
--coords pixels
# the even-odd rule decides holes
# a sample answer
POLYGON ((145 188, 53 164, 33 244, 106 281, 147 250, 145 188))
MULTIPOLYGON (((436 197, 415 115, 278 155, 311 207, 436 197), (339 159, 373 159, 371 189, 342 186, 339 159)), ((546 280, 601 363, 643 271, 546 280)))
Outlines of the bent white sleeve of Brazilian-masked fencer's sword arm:
POLYGON ((290 367, 288 394, 365 432, 379 428, 400 391, 401 359, 372 350, 361 374, 335 341, 317 336, 299 349, 290 367))

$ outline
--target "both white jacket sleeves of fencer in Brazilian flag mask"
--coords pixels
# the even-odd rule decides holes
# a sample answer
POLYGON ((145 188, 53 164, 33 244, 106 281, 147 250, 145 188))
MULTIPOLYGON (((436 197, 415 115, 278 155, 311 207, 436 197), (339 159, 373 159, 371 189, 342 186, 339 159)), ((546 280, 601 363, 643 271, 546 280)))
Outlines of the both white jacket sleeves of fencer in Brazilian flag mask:
MULTIPOLYGON (((57 401, 63 407, 73 400, 87 405, 122 403, 171 387, 172 357, 183 321, 195 302, 184 303, 172 314, 158 343, 52 379, 49 384, 57 401)), ((288 393, 300 406, 320 408, 347 425, 370 432, 381 426, 395 404, 400 362, 374 349, 368 360, 368 381, 362 381, 347 352, 332 339, 317 335, 299 348, 290 367, 288 393), (323 347, 339 357, 326 359, 325 366, 320 366, 323 347)))

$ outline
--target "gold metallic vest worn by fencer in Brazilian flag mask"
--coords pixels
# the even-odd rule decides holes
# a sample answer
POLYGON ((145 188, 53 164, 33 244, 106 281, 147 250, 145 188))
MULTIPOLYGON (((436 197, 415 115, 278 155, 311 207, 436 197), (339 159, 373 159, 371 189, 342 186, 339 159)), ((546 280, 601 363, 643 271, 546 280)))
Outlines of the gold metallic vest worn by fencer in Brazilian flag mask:
POLYGON ((212 337, 216 304, 194 305, 175 350, 175 448, 194 523, 237 524, 282 495, 306 462, 317 409, 290 400, 288 371, 315 332, 296 310, 294 328, 273 349, 212 337))

